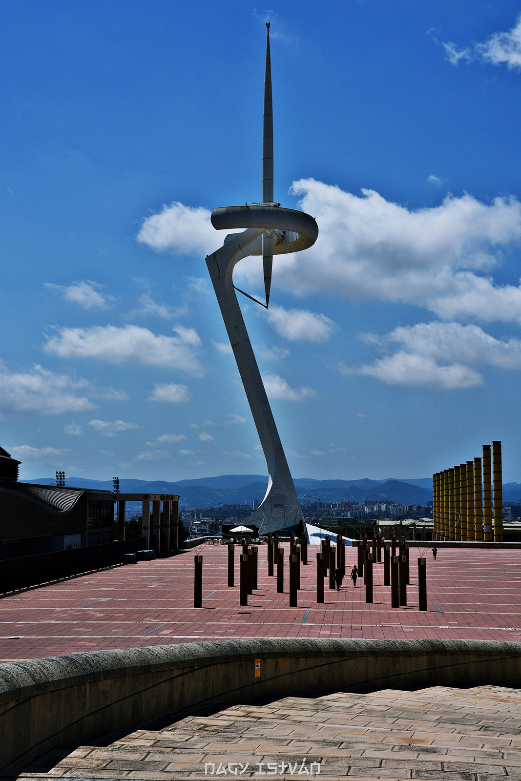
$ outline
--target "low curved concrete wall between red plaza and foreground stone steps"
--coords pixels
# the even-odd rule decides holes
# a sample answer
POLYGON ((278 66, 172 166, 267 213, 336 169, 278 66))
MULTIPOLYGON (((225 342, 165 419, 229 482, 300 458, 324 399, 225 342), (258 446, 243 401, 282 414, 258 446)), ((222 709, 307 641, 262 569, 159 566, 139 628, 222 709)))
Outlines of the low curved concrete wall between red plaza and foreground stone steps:
POLYGON ((12 662, 0 665, 1 764, 16 772, 59 744, 259 697, 483 683, 521 683, 520 643, 219 640, 12 662))

